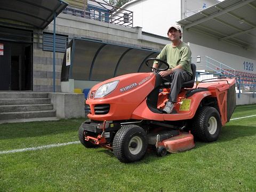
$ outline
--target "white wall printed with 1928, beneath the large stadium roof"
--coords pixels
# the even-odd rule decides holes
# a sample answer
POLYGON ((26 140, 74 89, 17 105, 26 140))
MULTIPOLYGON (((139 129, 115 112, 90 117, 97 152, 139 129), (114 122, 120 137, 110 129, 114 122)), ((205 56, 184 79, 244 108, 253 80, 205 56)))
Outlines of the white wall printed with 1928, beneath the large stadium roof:
MULTIPOLYGON (((183 41, 189 42, 192 57, 207 55, 238 71, 256 74, 256 53, 253 50, 245 50, 241 46, 219 41, 217 38, 190 30, 183 31, 183 41), (244 62, 245 65, 246 62, 253 63, 253 69, 249 70, 248 68, 246 70, 244 62)), ((202 64, 197 63, 198 66, 202 64)))

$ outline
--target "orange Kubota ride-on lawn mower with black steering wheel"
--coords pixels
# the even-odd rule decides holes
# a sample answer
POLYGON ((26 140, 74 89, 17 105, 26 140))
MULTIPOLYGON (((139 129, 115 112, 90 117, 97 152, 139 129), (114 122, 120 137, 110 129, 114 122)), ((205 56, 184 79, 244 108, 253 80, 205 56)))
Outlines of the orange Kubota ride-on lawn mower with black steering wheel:
MULTIPOLYGON (((157 60, 157 71, 169 69, 157 60)), ((216 141, 221 127, 230 119, 236 105, 235 78, 223 77, 182 85, 171 114, 163 113, 170 94, 170 82, 156 73, 133 73, 108 79, 92 87, 86 104, 89 120, 82 123, 78 137, 86 148, 101 146, 113 150, 119 161, 139 161, 149 147, 158 156, 193 148, 194 138, 216 141)))

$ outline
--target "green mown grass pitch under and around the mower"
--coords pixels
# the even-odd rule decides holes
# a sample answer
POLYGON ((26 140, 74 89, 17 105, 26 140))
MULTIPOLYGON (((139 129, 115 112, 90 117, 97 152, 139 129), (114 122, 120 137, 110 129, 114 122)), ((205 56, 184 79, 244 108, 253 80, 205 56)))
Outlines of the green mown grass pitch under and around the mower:
MULTIPOLYGON (((231 118, 255 114, 238 106, 231 118)), ((2 124, 0 152, 78 141, 83 120, 2 124)), ((0 191, 256 191, 256 116, 230 121, 217 142, 131 164, 79 143, 0 153, 0 191)))

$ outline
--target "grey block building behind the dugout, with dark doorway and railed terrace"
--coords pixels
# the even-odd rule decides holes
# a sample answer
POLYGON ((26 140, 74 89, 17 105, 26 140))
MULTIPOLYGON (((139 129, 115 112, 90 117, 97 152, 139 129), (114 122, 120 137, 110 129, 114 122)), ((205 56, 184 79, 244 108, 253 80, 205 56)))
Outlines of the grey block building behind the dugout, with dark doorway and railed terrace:
MULTIPOLYGON (((56 2, 61 1, 56 0, 56 2)), ((112 23, 113 7, 106 2, 97 2, 68 1, 70 5, 58 13, 55 19, 55 65, 53 65, 53 19, 49 25, 40 28, 33 26, 34 24, 31 24, 33 22, 21 22, 15 18, 5 19, 2 16, 0 18, 0 91, 60 92, 61 65, 67 45, 73 38, 94 39, 155 51, 161 50, 166 43, 165 38, 158 39, 143 34, 140 27, 132 28, 112 23)), ((15 13, 14 7, 20 5, 17 4, 13 8, 7 7, 11 6, 9 4, 2 6, 6 6, 6 10, 9 10, 6 14, 10 15, 12 12, 15 13)), ((27 6, 34 5, 28 3, 27 6)), ((45 6, 44 10, 49 11, 47 7, 51 6, 45 6)), ((25 8, 24 15, 31 14, 25 8)), ((37 18, 38 14, 35 14, 33 16, 37 18)), ((124 16, 119 20, 124 20, 124 16)))

